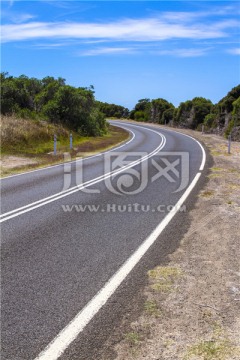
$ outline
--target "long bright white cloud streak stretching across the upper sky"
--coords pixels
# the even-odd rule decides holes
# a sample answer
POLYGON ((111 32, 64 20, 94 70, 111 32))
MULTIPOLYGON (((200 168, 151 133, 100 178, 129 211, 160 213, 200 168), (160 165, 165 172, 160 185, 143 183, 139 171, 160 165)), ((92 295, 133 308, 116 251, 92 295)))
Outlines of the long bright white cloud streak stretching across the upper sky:
POLYGON ((110 23, 30 22, 2 25, 2 42, 33 39, 106 39, 115 41, 161 41, 226 37, 237 21, 211 24, 171 23, 159 18, 126 19, 110 23))

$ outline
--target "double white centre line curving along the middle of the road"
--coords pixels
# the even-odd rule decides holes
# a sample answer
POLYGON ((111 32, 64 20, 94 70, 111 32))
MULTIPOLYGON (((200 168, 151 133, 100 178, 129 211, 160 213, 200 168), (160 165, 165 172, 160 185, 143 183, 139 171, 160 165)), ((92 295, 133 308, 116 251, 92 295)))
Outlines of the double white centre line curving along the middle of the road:
MULTIPOLYGON (((69 196, 77 191, 80 191, 80 190, 83 190, 84 188, 86 187, 89 187, 91 185, 95 185, 103 180, 106 180, 110 177, 112 177, 113 175, 117 175, 131 167, 134 167, 140 163, 142 163, 143 161, 145 160, 148 160, 150 159, 152 156, 156 155, 166 144, 166 138, 165 136, 163 136, 162 134, 160 134, 159 132, 155 131, 155 130, 152 130, 152 129, 148 129, 149 131, 152 131, 152 132, 155 132, 158 136, 161 137, 162 141, 161 141, 161 144, 156 148, 154 149, 150 154, 144 156, 143 158, 141 158, 140 160, 136 160, 136 161, 133 161, 132 163, 126 165, 126 166, 123 166, 121 169, 117 169, 115 171, 112 171, 110 173, 107 173, 107 174, 103 174, 95 179, 92 179, 92 180, 89 180, 83 184, 79 184, 79 185, 76 185, 68 190, 64 190, 64 191, 61 191, 59 193, 56 193, 54 195, 51 195, 51 196, 48 196, 44 199, 41 199, 41 200, 38 200, 38 201, 35 201, 33 203, 30 203, 30 204, 27 204, 25 206, 22 206, 20 208, 17 208, 17 209, 14 209, 14 210, 11 210, 11 211, 8 211, 2 215, 0 215, 0 223, 2 222, 5 222, 7 220, 10 220, 10 219, 13 219, 17 216, 20 216, 22 214, 25 214, 29 211, 32 211, 34 209, 37 209, 41 206, 44 206, 44 205, 47 205, 51 202, 54 202, 54 201, 57 201, 59 199, 62 199, 63 197, 66 197, 66 196, 69 196)), ((131 131, 131 130, 130 130, 131 131)), ((110 151, 109 151, 110 152, 110 151)))

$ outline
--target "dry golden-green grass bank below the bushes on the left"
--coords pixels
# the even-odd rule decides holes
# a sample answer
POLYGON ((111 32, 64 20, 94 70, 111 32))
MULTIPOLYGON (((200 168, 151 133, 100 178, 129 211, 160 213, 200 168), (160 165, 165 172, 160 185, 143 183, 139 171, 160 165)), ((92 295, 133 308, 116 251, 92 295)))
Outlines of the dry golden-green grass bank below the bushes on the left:
POLYGON ((104 149, 122 142, 129 136, 125 130, 114 126, 108 126, 108 132, 104 136, 81 136, 78 132, 70 132, 62 125, 3 116, 1 119, 2 155, 51 155, 54 135, 57 137, 57 153, 69 152, 70 133, 73 139, 72 155, 80 150, 94 152, 104 149))

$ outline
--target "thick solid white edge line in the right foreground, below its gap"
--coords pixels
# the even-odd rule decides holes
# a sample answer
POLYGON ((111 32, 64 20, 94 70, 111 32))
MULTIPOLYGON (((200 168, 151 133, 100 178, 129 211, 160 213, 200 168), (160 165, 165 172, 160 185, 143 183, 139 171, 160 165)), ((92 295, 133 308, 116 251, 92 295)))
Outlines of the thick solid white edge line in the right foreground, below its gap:
POLYGON ((201 173, 198 173, 177 202, 176 206, 161 221, 148 238, 140 245, 134 254, 120 267, 104 287, 94 296, 92 300, 73 318, 73 320, 55 337, 55 339, 36 357, 35 360, 57 360, 68 346, 84 330, 86 325, 93 319, 108 299, 114 294, 120 284, 126 279, 132 269, 142 259, 148 249, 154 244, 162 231, 166 228, 189 194, 196 186, 201 173))

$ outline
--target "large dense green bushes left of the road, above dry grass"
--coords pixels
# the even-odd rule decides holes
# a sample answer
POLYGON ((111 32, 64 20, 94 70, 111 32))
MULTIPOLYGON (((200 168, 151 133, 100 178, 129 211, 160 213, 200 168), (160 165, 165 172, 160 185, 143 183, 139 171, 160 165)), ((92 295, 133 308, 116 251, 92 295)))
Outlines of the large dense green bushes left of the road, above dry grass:
POLYGON ((104 115, 94 98, 94 88, 75 88, 65 79, 47 76, 42 80, 1 74, 1 113, 21 117, 40 117, 84 135, 106 132, 104 115))

